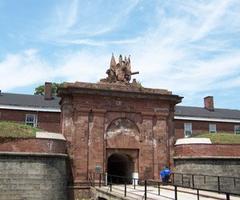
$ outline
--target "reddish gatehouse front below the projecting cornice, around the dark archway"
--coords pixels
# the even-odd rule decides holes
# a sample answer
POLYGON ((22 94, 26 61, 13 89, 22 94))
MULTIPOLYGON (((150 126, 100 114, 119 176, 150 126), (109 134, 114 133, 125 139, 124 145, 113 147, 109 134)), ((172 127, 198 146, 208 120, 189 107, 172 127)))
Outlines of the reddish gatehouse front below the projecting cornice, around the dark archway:
POLYGON ((173 106, 167 100, 127 95, 63 96, 62 130, 69 145, 74 182, 84 184, 96 165, 105 172, 110 150, 137 155, 133 159, 139 177, 159 178, 159 170, 169 164, 173 106), (137 130, 109 137, 109 127, 121 118, 131 120, 137 130))

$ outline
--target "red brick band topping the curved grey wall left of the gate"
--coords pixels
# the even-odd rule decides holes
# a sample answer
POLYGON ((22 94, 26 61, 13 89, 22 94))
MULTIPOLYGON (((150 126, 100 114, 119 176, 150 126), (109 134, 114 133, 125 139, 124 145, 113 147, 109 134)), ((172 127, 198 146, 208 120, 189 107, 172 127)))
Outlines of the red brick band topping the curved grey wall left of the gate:
POLYGON ((38 138, 1 138, 1 152, 26 152, 26 153, 66 153, 64 140, 38 139, 38 138))

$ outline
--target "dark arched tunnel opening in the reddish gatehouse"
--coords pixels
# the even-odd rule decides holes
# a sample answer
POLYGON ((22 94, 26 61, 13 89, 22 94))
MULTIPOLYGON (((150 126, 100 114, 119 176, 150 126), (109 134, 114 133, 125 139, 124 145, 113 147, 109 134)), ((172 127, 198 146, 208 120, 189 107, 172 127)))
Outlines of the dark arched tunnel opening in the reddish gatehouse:
POLYGON ((131 183, 134 163, 126 154, 114 153, 108 158, 107 173, 108 182, 131 183))

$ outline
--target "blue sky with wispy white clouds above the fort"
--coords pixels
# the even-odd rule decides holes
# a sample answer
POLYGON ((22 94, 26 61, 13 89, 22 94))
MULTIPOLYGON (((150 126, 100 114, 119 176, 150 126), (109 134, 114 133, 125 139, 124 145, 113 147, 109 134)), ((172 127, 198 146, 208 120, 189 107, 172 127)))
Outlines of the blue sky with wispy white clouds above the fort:
POLYGON ((239 0, 0 0, 0 89, 98 82, 112 52, 182 105, 240 109, 239 0))

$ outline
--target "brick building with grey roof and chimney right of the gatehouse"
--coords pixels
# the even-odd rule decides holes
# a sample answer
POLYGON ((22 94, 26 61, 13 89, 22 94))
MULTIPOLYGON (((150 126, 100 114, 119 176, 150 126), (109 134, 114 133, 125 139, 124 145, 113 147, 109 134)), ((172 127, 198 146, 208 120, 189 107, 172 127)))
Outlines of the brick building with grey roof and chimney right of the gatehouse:
POLYGON ((201 133, 240 134, 240 110, 214 108, 212 96, 204 98, 204 107, 176 106, 175 137, 201 133))

